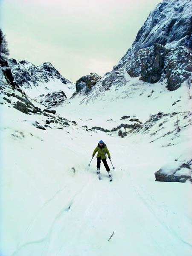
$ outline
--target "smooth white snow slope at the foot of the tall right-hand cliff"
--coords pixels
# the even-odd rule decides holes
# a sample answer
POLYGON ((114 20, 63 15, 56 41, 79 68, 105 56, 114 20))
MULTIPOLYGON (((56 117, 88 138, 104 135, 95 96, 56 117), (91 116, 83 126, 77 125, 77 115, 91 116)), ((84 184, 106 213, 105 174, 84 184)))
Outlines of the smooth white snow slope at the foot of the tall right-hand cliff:
POLYGON ((69 119, 77 116, 76 122, 88 125, 88 128, 100 126, 111 130, 126 122, 120 120, 123 115, 146 122, 152 114, 160 111, 191 111, 189 95, 192 91, 187 83, 171 92, 164 82, 149 84, 127 75, 126 83, 121 86, 111 85, 110 90, 105 90, 98 84, 87 95, 78 93, 54 109, 69 119))

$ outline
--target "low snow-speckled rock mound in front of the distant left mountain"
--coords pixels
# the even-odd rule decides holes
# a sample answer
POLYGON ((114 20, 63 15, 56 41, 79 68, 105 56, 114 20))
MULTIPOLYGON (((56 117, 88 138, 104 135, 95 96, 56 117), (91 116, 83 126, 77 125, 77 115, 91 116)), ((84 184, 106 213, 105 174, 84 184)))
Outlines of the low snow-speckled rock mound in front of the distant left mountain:
POLYGON ((64 102, 67 99, 65 93, 60 90, 58 92, 50 92, 44 96, 39 102, 46 107, 52 108, 55 105, 64 102))

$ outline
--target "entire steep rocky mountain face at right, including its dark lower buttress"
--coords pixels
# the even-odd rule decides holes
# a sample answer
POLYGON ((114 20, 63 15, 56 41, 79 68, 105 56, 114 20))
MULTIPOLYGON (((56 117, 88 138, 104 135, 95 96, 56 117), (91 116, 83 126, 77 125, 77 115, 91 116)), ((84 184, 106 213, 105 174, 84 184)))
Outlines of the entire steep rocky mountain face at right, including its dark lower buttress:
POLYGON ((167 79, 176 90, 192 73, 192 2, 164 0, 150 13, 125 56, 102 85, 122 85, 127 74, 148 83, 167 79))

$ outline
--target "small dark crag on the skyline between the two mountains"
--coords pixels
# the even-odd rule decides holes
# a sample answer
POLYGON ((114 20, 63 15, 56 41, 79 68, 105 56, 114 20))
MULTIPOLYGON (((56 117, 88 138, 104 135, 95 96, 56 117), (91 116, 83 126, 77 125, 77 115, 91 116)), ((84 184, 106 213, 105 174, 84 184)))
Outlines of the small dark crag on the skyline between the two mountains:
POLYGON ((95 73, 90 73, 90 75, 82 76, 79 80, 76 81, 76 91, 79 92, 83 88, 85 88, 86 91, 89 91, 100 79, 101 76, 98 76, 95 73))

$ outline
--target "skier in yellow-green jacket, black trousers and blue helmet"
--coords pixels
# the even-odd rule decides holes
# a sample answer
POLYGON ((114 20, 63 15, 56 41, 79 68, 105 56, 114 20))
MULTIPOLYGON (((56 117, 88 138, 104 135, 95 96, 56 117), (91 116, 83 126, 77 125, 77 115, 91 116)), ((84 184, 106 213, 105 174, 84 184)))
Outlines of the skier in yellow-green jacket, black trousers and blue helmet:
POLYGON ((101 176, 100 176, 100 166, 101 166, 101 160, 105 166, 106 171, 108 172, 109 178, 110 180, 112 180, 112 175, 111 175, 111 171, 109 169, 107 160, 106 160, 106 154, 108 154, 109 159, 111 159, 111 155, 109 153, 109 150, 107 148, 107 145, 100 140, 98 145, 96 146, 95 150, 93 151, 93 155, 92 157, 94 157, 94 155, 96 154, 96 152, 98 151, 97 154, 97 174, 99 176, 99 179, 101 180, 101 176))

